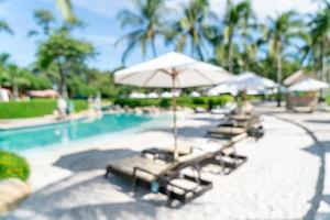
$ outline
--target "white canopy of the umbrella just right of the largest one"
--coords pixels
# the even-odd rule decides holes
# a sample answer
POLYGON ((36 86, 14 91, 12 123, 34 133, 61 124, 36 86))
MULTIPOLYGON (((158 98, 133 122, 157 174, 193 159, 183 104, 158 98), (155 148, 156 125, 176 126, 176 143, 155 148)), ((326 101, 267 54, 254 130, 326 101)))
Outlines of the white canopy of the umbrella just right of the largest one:
POLYGON ((264 90, 266 88, 277 87, 277 84, 271 79, 261 77, 254 73, 245 72, 240 74, 229 85, 238 91, 246 90, 264 90))

